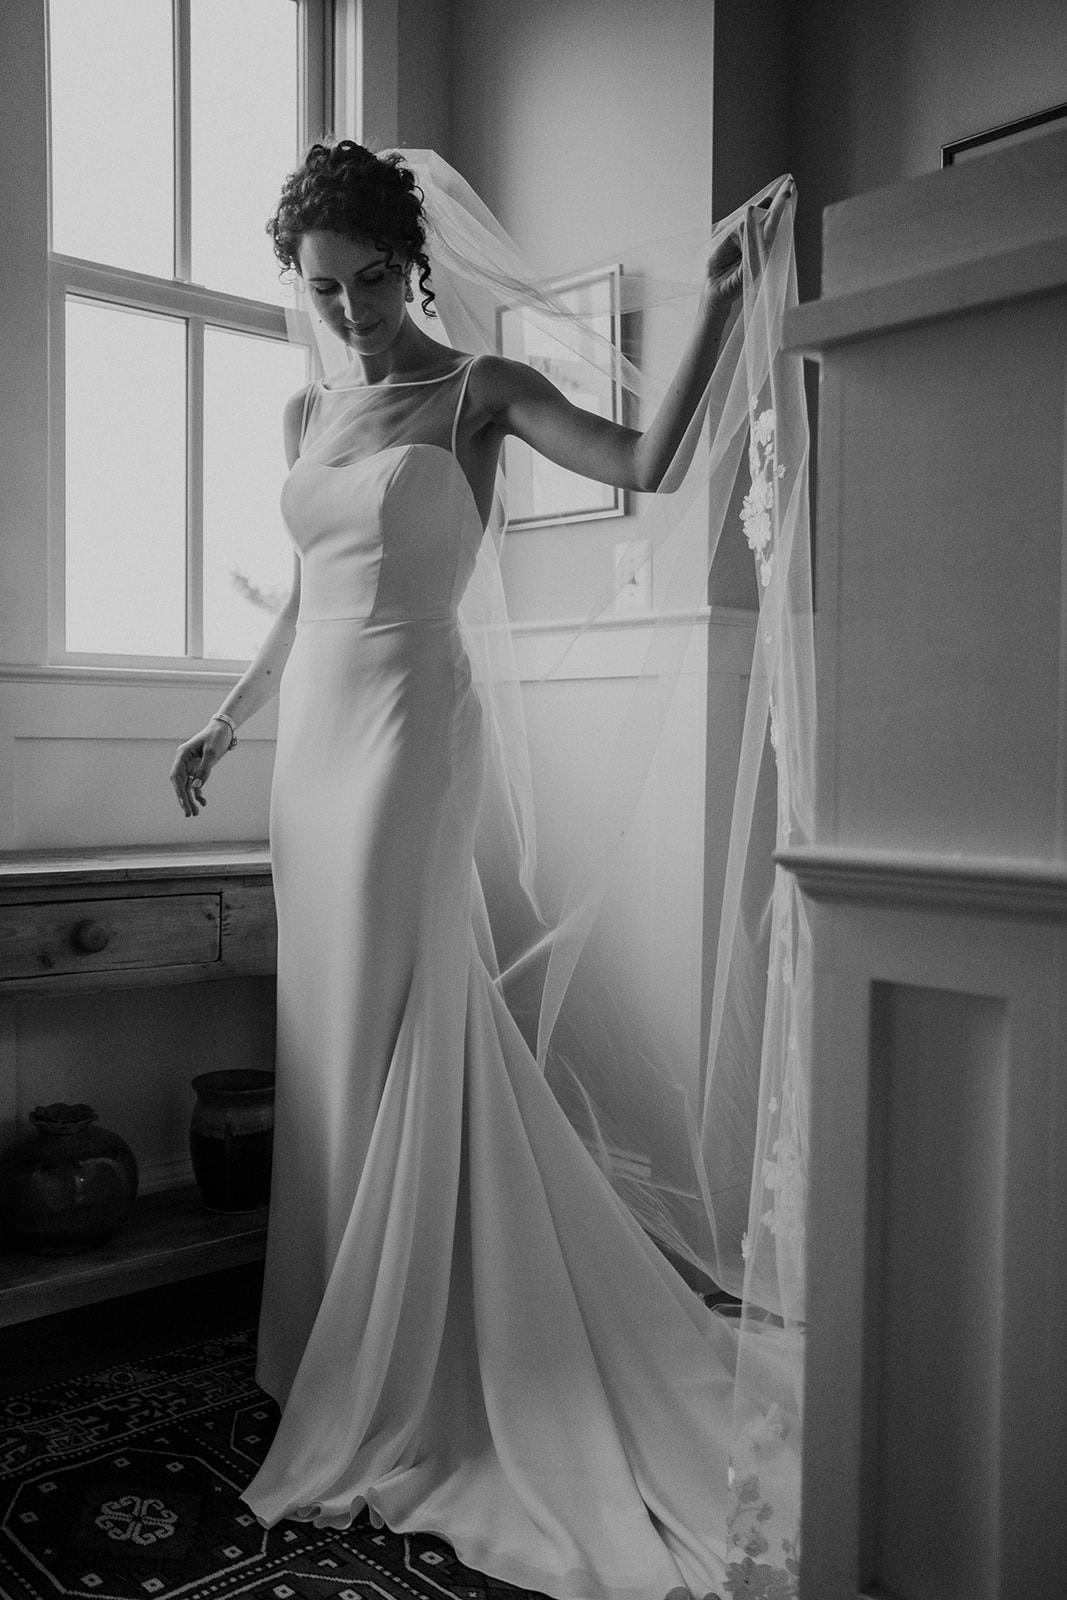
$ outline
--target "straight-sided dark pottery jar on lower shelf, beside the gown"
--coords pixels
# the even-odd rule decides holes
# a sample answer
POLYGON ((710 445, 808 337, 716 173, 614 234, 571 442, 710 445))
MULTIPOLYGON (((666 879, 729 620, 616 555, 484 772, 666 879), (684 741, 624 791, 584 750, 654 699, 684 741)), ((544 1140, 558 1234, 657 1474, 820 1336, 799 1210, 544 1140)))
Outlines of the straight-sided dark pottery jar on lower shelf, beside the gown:
POLYGON ((202 1072, 192 1086, 189 1152, 203 1205, 258 1211, 270 1198, 274 1072, 202 1072))

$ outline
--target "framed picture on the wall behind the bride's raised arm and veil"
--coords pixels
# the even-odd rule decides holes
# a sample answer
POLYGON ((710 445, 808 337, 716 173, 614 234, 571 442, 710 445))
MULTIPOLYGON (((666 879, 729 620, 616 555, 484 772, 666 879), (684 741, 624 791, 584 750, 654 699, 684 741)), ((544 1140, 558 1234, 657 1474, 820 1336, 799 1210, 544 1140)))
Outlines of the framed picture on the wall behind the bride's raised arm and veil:
MULTIPOLYGON (((619 347, 619 280, 622 267, 601 267, 569 278, 558 278, 552 290, 576 314, 587 317, 595 331, 619 347)), ((553 318, 501 306, 496 314, 496 347, 501 355, 526 362, 561 389, 584 411, 619 422, 619 386, 605 373, 571 355, 553 331, 553 318)), ((507 526, 544 528, 561 522, 593 522, 625 515, 625 493, 611 483, 597 483, 577 472, 545 461, 520 438, 504 440, 507 482, 507 526)))

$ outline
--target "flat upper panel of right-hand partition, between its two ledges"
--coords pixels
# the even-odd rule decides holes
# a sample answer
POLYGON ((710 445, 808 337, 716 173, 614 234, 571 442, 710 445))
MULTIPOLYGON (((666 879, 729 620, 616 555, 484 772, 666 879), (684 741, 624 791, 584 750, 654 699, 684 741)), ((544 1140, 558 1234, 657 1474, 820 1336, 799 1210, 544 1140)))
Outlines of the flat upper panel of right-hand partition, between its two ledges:
POLYGON ((1059 854, 1067 294, 861 341, 825 382, 849 470, 821 837, 1059 854))

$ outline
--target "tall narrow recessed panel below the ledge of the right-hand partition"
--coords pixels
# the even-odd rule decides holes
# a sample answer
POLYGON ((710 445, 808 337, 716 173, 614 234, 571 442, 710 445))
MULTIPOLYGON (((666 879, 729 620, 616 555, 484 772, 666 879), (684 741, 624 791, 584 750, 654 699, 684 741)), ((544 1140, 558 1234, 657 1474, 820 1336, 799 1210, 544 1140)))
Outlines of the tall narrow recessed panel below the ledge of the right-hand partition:
POLYGON ((870 1022, 875 1573, 915 1600, 993 1600, 1008 1003, 880 982, 870 1022))

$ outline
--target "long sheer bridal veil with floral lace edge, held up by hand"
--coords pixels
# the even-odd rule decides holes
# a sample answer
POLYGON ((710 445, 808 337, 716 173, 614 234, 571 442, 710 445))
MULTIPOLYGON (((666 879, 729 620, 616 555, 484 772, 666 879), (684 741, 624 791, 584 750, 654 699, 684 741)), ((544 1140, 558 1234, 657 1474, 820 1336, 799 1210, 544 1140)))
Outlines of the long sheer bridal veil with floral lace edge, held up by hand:
MULTIPOLYGON (((621 338, 613 339, 603 318, 576 312, 573 298, 536 280, 446 162, 430 150, 398 154, 414 170, 432 224, 438 320, 427 331, 462 350, 496 350, 506 310, 530 330, 528 349, 558 352, 576 389, 597 392, 605 378, 617 384, 633 426, 649 419, 670 376, 633 358, 646 347, 649 320, 691 325, 715 238, 742 230, 741 310, 669 493, 638 504, 651 606, 629 619, 621 640, 611 573, 582 618, 517 630, 506 605, 501 474, 461 622, 490 728, 475 851, 480 946, 621 1198, 683 1269, 694 1269, 696 1283, 741 1301, 731 1317, 731 1514, 720 1531, 734 1590, 785 1600, 798 1562, 811 946, 805 907, 792 877, 776 869, 774 850, 811 837, 814 778, 808 424, 800 358, 782 349, 784 314, 797 299, 795 202, 769 248, 758 206, 781 179, 710 238, 672 240, 678 270, 670 282, 624 264, 621 338), (747 541, 750 611, 707 605, 720 539, 747 541), (595 714, 545 739, 553 686, 597 678, 606 634, 614 664, 595 714), (739 650, 736 670, 717 669, 723 651, 736 661, 739 650), (555 734, 563 749, 553 749, 555 734), (673 797, 681 784, 693 794, 673 797), (553 819, 542 829, 552 843, 542 840, 539 854, 544 814, 553 819), (678 883, 664 866, 680 816, 707 821, 715 870, 702 883, 678 883), (640 917, 632 914, 635 872, 643 874, 640 917), (689 941, 693 966, 702 963, 696 979, 688 974, 702 997, 696 1024, 677 1016, 685 1010, 678 939, 664 936, 681 917, 680 896, 702 904, 707 922, 689 941)), ((294 338, 307 342, 302 312, 294 338)), ((323 346, 322 360, 344 365, 344 350, 323 346)))

